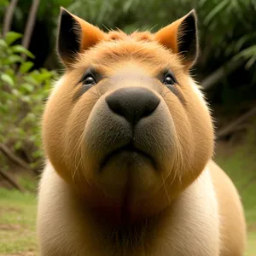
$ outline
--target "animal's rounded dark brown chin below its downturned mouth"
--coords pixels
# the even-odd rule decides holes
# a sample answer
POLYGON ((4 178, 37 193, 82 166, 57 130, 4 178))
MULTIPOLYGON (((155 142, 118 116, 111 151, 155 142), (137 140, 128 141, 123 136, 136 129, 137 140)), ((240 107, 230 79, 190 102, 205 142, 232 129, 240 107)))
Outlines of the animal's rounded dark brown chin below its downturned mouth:
POLYGON ((154 194, 162 181, 157 166, 147 154, 136 149, 121 149, 108 156, 99 171, 99 188, 109 198, 139 201, 154 194))

